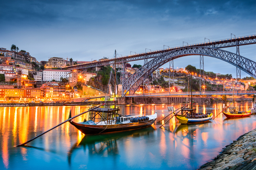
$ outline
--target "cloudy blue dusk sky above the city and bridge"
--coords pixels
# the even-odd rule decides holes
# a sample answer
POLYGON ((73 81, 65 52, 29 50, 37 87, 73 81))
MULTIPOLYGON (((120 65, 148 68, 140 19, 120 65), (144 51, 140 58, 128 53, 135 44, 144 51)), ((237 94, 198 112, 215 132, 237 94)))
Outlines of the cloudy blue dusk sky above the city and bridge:
MULTIPOLYGON (((12 44, 38 61, 50 57, 91 61, 145 48, 163 49, 256 34, 255 0, 2 0, 0 47, 12 44)), ((236 48, 223 48, 235 52, 236 48)), ((256 61, 256 44, 240 47, 240 54, 256 61)), ((204 57, 205 71, 232 74, 235 66, 204 57)), ((143 61, 131 62, 141 64, 143 61)), ((174 60, 174 67, 199 68, 199 56, 174 60)), ((168 67, 169 64, 163 67, 168 67)), ((241 71, 242 77, 249 76, 241 71)))

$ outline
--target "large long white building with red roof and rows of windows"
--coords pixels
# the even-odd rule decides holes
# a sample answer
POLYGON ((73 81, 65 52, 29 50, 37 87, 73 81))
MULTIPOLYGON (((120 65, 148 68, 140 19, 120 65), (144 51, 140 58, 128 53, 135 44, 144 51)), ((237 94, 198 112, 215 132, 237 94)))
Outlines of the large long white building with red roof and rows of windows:
POLYGON ((43 71, 43 81, 60 81, 60 78, 69 78, 69 73, 72 71, 70 70, 53 70, 53 69, 46 69, 43 71))

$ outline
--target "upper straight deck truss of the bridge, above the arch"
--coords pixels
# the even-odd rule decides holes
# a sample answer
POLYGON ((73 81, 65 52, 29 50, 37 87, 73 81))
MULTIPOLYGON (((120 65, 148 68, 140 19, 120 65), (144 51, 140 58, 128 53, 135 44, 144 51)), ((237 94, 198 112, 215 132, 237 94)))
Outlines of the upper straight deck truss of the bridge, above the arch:
MULTIPOLYGON (((248 45, 248 44, 255 44, 255 43, 256 43, 256 35, 244 36, 244 37, 238 37, 238 38, 232 38, 232 39, 218 40, 213 42, 203 42, 203 43, 197 43, 192 45, 185 45, 185 46, 179 46, 179 47, 173 47, 173 48, 166 48, 162 50, 143 52, 139 54, 121 56, 116 58, 116 63, 154 58, 159 55, 162 55, 163 53, 173 51, 175 49, 182 49, 184 47, 202 46, 202 47, 212 47, 212 48, 225 48, 225 47, 248 45)), ((97 66, 103 66, 103 65, 112 65, 114 64, 114 62, 115 62, 115 58, 110 58, 110 59, 103 59, 101 61, 94 61, 94 62, 89 62, 84 64, 72 65, 72 66, 64 67, 63 69, 69 69, 69 70, 84 69, 84 68, 97 67, 97 66)))

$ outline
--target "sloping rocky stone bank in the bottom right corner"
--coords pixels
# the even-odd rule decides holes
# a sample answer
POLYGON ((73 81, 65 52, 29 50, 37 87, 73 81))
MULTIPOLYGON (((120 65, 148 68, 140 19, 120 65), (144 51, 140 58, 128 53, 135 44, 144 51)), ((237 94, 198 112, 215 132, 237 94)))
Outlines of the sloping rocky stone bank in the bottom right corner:
POLYGON ((211 162, 202 165, 199 170, 236 170, 249 164, 254 166, 251 162, 256 162, 255 136, 256 129, 243 134, 237 141, 227 145, 211 162))

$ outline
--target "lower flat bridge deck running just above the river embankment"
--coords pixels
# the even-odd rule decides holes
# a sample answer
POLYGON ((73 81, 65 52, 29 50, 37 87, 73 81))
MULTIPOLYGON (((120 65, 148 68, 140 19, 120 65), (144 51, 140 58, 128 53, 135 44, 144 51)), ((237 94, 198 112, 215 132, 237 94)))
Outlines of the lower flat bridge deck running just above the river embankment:
MULTIPOLYGON (((233 91, 211 91, 211 92, 192 92, 192 95, 233 95, 233 91)), ((237 91, 235 95, 255 94, 255 91, 237 91)), ((146 94, 126 94, 124 97, 140 96, 188 96, 191 92, 171 92, 171 93, 146 93, 146 94)))

